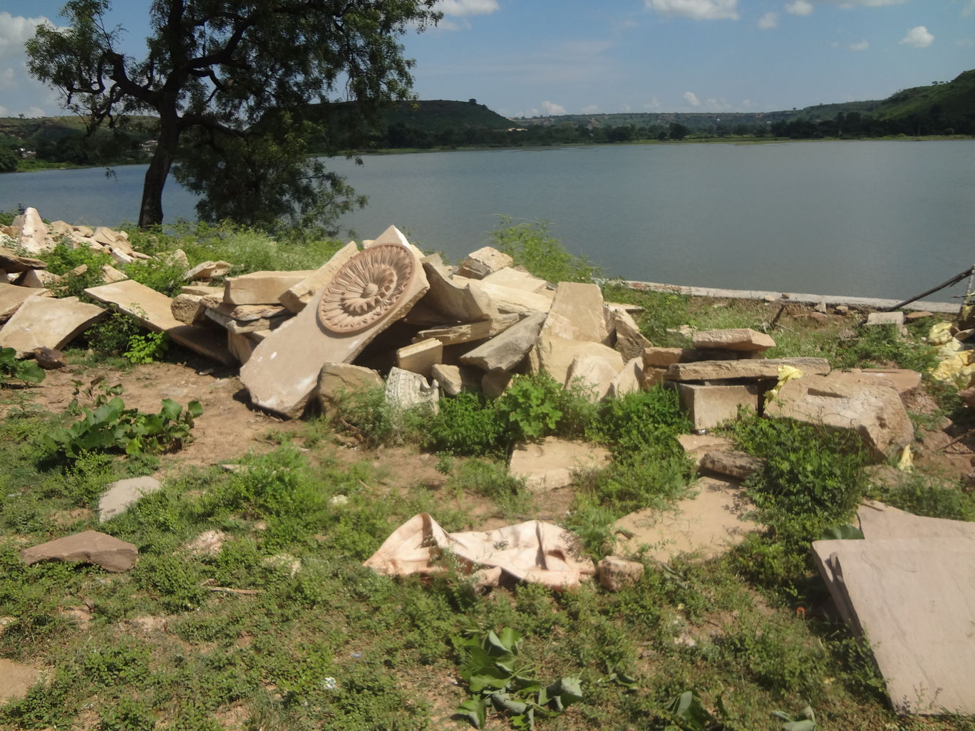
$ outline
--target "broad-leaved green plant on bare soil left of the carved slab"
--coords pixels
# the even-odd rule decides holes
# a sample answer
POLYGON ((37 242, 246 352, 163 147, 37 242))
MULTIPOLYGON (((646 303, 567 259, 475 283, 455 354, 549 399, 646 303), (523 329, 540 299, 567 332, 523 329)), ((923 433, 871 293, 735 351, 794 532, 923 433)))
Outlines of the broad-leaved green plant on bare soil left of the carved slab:
POLYGON ((45 445, 60 457, 76 460, 90 451, 162 452, 178 449, 192 440, 193 420, 203 413, 198 401, 184 409, 164 399, 159 413, 126 408, 115 395, 119 387, 94 399, 95 407, 82 409, 83 416, 68 427, 44 436, 45 445))

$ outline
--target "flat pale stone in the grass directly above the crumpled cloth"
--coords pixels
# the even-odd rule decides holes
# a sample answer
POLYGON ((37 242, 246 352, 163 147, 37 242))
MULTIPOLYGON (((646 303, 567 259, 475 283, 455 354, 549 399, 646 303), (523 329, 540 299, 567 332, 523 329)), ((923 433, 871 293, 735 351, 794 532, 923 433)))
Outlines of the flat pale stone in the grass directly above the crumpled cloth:
POLYGON ((589 442, 547 437, 538 443, 516 444, 508 460, 512 477, 524 479, 529 492, 550 492, 572 483, 580 471, 602 470, 609 452, 589 442))

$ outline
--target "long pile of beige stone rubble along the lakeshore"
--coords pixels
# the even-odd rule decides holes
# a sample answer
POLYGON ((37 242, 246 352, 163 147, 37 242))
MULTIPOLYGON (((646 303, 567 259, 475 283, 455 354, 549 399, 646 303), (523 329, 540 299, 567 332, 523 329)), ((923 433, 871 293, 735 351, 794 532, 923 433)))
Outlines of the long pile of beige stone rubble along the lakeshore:
MULTIPOLYGON (((124 264, 149 258, 124 232, 45 226, 33 209, 3 233, 39 256, 61 244, 103 250, 124 264)), ((181 251, 168 256, 185 262, 181 251)), ((391 226, 362 248, 350 242, 315 270, 227 277, 228 262, 186 263, 187 284, 171 298, 106 266, 105 284, 85 292, 197 353, 241 365, 252 402, 289 418, 316 398, 328 409, 339 389, 385 384, 395 404, 435 406, 441 393, 495 397, 513 374, 545 371, 594 401, 672 383, 699 431, 747 406, 852 429, 878 459, 913 439, 900 398, 919 386, 913 371, 831 372, 825 359, 766 359, 772 338, 741 328, 694 332, 692 348, 654 347, 630 308, 604 302, 598 286, 549 283, 512 264, 487 247, 449 267, 391 226), (218 277, 222 284, 213 286, 218 277), (769 399, 783 374, 787 382, 769 399)), ((59 349, 104 314, 74 297, 52 297, 57 278, 45 267, 0 250, 7 280, 0 346, 19 357, 59 349)))

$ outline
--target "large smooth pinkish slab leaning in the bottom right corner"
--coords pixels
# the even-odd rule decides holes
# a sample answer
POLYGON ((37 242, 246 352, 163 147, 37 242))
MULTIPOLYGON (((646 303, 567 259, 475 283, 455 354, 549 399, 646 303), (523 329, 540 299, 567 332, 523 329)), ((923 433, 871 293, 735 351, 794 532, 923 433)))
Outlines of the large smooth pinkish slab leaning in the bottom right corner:
POLYGON ((975 713, 975 542, 868 538, 812 548, 840 612, 867 636, 894 710, 975 713))

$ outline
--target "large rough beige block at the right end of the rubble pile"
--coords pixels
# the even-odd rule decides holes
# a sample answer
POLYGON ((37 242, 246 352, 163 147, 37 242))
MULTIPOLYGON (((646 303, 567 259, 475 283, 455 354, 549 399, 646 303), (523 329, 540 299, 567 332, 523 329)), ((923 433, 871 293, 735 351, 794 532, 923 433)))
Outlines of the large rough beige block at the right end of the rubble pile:
MULTIPOLYGON (((740 362, 739 362, 740 363, 740 362)), ((848 429, 878 460, 914 440, 914 427, 894 389, 803 375, 765 404, 765 414, 848 429)))

